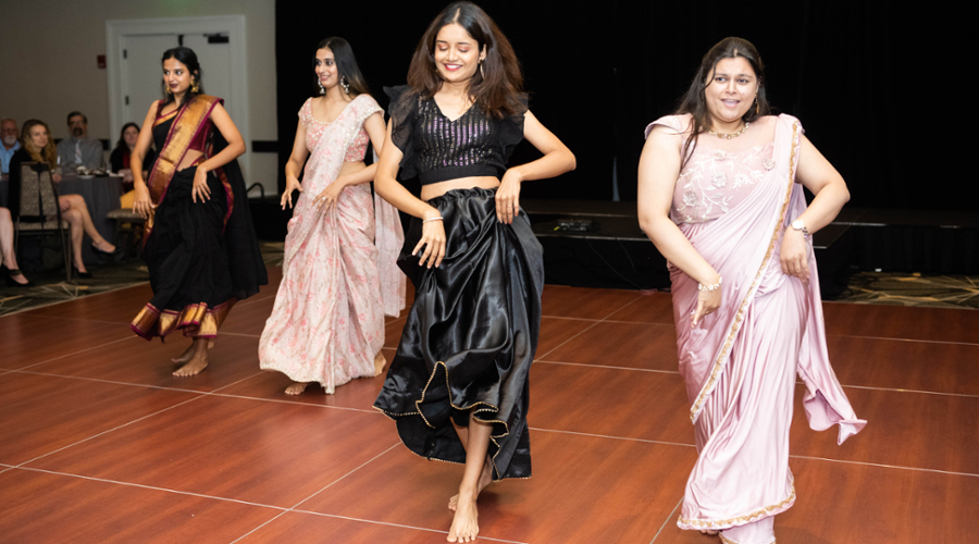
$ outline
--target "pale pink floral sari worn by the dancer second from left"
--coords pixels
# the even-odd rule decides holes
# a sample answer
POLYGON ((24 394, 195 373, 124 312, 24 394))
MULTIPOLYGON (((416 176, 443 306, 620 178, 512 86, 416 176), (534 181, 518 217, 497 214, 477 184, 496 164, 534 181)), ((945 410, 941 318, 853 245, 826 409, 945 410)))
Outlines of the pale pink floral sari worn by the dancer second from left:
POLYGON ((310 147, 303 191, 288 224, 282 283, 259 342, 259 361, 296 382, 319 382, 330 394, 355 378, 374 375, 384 316, 405 307, 404 274, 391 250, 400 248, 404 235, 397 212, 380 199, 375 225, 369 184, 345 188, 329 211, 312 206, 336 180, 345 157, 363 156, 362 125, 382 111, 377 102, 360 95, 329 124, 312 118, 308 104, 300 111, 310 147))

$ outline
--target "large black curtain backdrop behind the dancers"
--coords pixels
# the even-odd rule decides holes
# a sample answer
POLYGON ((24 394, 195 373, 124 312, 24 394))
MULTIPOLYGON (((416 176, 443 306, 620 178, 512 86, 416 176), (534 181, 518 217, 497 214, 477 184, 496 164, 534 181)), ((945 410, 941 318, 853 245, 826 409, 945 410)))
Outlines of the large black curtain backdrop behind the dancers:
MULTIPOLYGON (((970 100, 966 59, 954 53, 963 49, 951 44, 968 36, 959 29, 964 13, 932 5, 899 13, 882 1, 479 3, 523 63, 531 111, 578 158, 574 172, 524 185, 529 198, 610 200, 617 180, 619 198, 635 200, 644 127, 673 110, 714 44, 741 36, 761 53, 777 111, 798 116, 847 181, 851 207, 976 209, 979 189, 959 165, 965 161, 956 161, 968 156, 971 121, 945 113, 953 103, 968 109, 970 100), (956 78, 962 91, 950 90, 956 78)), ((411 53, 443 7, 342 2, 310 10, 277 0, 281 163, 296 113, 312 94, 317 42, 346 38, 386 108, 381 87, 405 83, 411 53)), ((523 143, 511 163, 538 156, 523 143)))

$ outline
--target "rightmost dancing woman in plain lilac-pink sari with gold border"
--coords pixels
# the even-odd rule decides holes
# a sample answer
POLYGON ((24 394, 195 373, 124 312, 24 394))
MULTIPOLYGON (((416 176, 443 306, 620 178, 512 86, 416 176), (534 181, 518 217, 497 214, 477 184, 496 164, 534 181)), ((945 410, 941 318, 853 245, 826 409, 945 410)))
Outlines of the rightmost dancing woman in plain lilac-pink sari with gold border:
POLYGON ((850 194, 798 120, 769 115, 761 60, 741 38, 704 55, 677 114, 646 136, 640 223, 670 263, 699 453, 678 524, 770 544, 774 515, 795 502, 796 373, 814 430, 839 424, 842 444, 866 424, 829 362, 809 239, 850 194))

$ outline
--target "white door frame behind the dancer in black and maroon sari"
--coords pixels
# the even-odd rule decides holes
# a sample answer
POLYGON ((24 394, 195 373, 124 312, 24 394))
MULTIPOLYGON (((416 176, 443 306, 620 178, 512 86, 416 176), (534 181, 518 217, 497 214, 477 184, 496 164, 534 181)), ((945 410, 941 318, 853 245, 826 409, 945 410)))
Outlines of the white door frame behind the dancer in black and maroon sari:
MULTIPOLYGON (((127 121, 123 120, 123 37, 159 34, 216 34, 227 33, 234 40, 230 48, 232 96, 227 112, 245 140, 245 149, 249 149, 251 138, 248 122, 248 38, 245 32, 245 15, 214 15, 201 17, 166 17, 166 18, 125 18, 106 21, 106 69, 109 79, 109 135, 114 141, 115 135, 127 121)), ((161 51, 162 53, 162 51, 161 51)), ((141 119, 132 120, 141 123, 141 119)), ((248 174, 249 156, 245 153, 238 162, 245 174, 248 174)))

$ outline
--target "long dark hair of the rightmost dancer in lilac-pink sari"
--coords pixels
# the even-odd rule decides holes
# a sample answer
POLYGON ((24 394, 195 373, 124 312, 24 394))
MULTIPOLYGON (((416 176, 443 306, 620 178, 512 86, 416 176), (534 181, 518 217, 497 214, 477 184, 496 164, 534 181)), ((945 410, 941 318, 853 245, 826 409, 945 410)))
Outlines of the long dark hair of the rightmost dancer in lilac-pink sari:
POLYGON ((680 107, 677 108, 677 115, 690 113, 693 116, 691 137, 686 139, 686 144, 683 146, 683 153, 681 154, 681 157, 683 157, 683 163, 680 166, 681 170, 686 165, 686 161, 690 160, 694 149, 697 148, 697 137, 699 134, 710 127, 710 114, 707 111, 707 97, 704 92, 707 85, 714 81, 717 63, 720 62, 721 59, 734 59, 738 57, 748 61, 748 64, 752 65, 752 70, 755 71, 755 77, 758 79, 757 108, 755 108, 754 104, 752 108, 748 108, 747 113, 741 118, 742 121, 751 123, 761 115, 771 113, 771 108, 765 96, 765 64, 761 63, 761 55, 758 54, 758 50, 755 49, 755 46, 753 46, 751 41, 744 38, 732 36, 718 41, 709 51, 707 51, 707 54, 704 55, 704 59, 701 61, 701 67, 697 69, 696 75, 694 75, 693 81, 690 83, 690 88, 686 89, 683 98, 680 99, 680 107))

